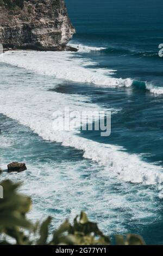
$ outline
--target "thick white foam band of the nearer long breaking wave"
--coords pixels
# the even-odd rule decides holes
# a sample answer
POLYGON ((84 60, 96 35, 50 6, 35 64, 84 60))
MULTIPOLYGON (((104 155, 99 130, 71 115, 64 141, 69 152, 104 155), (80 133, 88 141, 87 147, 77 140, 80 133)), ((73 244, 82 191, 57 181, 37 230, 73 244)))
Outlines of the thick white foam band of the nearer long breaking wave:
POLYGON ((1 113, 30 127, 43 139, 83 150, 83 156, 86 159, 105 166, 108 172, 115 173, 124 181, 144 184, 161 184, 163 182, 161 167, 143 162, 139 156, 130 155, 121 147, 93 142, 73 132, 53 130, 52 115, 58 109, 62 110, 65 106, 70 106, 72 111, 98 109, 98 106, 84 102, 83 96, 47 92, 33 86, 16 89, 16 85, 2 88, 1 95, 1 113))

